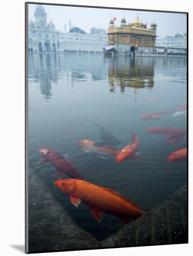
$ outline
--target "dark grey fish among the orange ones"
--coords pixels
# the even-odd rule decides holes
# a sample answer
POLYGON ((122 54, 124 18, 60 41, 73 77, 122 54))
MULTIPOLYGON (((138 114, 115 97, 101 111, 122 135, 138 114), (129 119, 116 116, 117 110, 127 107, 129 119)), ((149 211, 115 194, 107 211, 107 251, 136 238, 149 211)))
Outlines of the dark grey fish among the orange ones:
POLYGON ((115 136, 113 136, 110 132, 106 131, 105 127, 101 127, 97 123, 93 122, 94 125, 96 125, 99 128, 100 131, 100 138, 103 142, 94 143, 94 146, 96 147, 103 147, 104 145, 114 146, 119 145, 122 143, 121 141, 118 141, 115 136))

